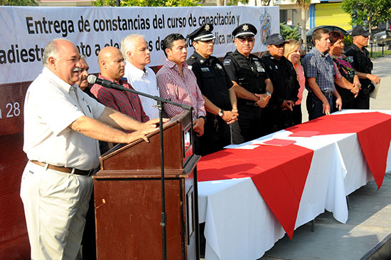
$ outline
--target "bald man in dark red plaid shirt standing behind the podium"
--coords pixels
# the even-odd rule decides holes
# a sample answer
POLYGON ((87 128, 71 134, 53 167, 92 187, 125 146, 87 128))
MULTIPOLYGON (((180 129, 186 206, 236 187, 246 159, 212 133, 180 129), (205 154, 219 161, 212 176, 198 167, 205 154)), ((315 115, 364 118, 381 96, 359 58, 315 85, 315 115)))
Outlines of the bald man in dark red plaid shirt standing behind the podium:
MULTIPOLYGON (((102 48, 98 55, 98 63, 100 68, 99 78, 112 81, 125 88, 134 89, 132 85, 127 83, 127 80, 122 79, 125 63, 119 49, 110 46, 102 48)), ((134 120, 142 123, 149 120, 148 115, 144 113, 139 95, 135 93, 105 88, 97 84, 92 85, 91 93, 103 105, 128 115, 134 120)))

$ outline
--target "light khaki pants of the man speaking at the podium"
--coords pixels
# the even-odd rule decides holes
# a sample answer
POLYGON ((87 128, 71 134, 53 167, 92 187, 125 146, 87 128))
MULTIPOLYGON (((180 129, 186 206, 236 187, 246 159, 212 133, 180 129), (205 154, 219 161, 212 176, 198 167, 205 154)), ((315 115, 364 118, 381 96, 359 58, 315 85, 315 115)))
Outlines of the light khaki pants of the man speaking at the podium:
POLYGON ((31 259, 78 259, 92 178, 45 169, 28 162, 21 199, 31 259))

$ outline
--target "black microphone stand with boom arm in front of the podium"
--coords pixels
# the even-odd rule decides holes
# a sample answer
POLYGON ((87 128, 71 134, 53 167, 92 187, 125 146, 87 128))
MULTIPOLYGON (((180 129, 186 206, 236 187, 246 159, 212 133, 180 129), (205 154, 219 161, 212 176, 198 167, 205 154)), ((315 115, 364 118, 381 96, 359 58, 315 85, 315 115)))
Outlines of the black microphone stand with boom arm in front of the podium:
MULTIPOLYGON (((98 83, 96 83, 98 84, 98 83)), ((98 84, 100 85, 100 84, 98 84)), ((164 142, 163 142, 163 105, 164 103, 168 103, 171 105, 176 105, 180 108, 183 108, 185 110, 189 110, 191 112, 191 132, 193 132, 193 107, 190 105, 183 105, 180 103, 173 102, 171 100, 168 100, 166 98, 161 98, 156 95, 149 95, 146 93, 139 92, 137 90, 133 90, 130 88, 125 88, 122 85, 118 85, 116 83, 111 83, 109 86, 104 85, 105 88, 114 88, 116 90, 120 91, 128 91, 135 93, 137 95, 143 95, 147 98, 152 98, 156 100, 157 105, 156 107, 159 109, 159 134, 160 134, 160 161, 161 161, 161 239, 163 244, 163 259, 167 259, 167 237, 166 237, 166 194, 165 194, 165 187, 164 187, 164 142)), ((193 146, 194 149, 194 146, 193 146)))

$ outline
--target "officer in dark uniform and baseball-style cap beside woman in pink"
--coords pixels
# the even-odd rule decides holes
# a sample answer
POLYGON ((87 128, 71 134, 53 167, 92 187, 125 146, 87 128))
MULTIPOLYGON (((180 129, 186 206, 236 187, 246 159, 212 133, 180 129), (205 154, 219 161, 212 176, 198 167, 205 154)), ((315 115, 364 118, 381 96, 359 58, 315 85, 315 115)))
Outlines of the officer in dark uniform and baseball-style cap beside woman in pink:
POLYGON ((293 106, 299 93, 299 81, 294 66, 284 57, 284 37, 274 33, 267 37, 267 54, 261 60, 273 83, 274 93, 264 108, 262 120, 267 133, 276 132, 294 125, 293 106))

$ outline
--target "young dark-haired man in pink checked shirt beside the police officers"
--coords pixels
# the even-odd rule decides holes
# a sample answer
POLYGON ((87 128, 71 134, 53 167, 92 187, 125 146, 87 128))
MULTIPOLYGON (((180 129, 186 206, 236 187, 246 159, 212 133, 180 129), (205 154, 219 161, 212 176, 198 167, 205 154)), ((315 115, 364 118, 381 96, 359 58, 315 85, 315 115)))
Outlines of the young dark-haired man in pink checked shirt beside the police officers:
MULTIPOLYGON (((166 63, 156 73, 156 81, 161 98, 193 107, 193 130, 195 135, 203 135, 205 107, 203 96, 197 85, 193 71, 186 64, 187 49, 185 38, 180 33, 171 33, 163 40, 166 63)), ((168 118, 182 113, 183 108, 165 104, 164 113, 168 118)), ((196 138, 195 138, 196 139, 196 138)), ((195 140, 195 153, 198 153, 195 140)))

